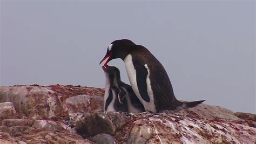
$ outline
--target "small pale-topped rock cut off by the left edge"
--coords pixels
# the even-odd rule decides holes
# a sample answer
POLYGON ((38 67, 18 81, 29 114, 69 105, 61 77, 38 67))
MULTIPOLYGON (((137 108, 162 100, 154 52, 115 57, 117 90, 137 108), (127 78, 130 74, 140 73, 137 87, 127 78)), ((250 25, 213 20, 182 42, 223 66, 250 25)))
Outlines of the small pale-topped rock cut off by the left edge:
POLYGON ((0 121, 3 119, 11 119, 11 118, 17 118, 17 117, 18 116, 15 111, 14 104, 12 104, 12 102, 0 103, 0 121))

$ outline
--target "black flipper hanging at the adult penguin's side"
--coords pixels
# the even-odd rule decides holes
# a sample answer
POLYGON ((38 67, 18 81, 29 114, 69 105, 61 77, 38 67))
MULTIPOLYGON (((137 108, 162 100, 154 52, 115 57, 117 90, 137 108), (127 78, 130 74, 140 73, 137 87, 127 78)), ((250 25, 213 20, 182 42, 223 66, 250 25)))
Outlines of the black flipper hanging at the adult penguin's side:
POLYGON ((146 102, 150 102, 149 94, 147 93, 147 68, 145 66, 136 65, 136 80, 140 96, 146 102))

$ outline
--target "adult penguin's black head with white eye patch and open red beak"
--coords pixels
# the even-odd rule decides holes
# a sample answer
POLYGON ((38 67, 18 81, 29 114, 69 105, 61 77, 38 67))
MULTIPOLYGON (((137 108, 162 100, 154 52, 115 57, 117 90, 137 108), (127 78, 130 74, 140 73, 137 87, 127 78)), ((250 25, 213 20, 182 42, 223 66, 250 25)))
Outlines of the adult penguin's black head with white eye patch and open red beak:
POLYGON ((130 53, 133 46, 135 46, 131 40, 129 39, 120 39, 114 40, 108 47, 105 57, 100 61, 101 64, 105 59, 106 62, 104 66, 109 63, 110 60, 120 58, 123 59, 130 53))

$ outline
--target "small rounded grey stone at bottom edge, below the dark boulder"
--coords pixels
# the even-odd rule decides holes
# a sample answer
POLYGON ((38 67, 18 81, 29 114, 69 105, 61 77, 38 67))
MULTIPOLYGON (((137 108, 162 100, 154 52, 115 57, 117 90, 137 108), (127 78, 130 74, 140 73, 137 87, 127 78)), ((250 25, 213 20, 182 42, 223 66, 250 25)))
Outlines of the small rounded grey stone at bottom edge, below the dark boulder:
POLYGON ((90 138, 90 140, 96 144, 115 143, 113 136, 109 134, 97 134, 90 138))

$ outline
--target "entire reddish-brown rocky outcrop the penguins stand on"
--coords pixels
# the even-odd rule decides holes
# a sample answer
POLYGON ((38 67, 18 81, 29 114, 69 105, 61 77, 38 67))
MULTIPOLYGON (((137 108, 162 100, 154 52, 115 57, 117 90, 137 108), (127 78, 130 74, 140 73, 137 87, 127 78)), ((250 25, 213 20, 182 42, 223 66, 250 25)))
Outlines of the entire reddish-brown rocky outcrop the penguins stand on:
POLYGON ((254 143, 255 114, 201 104, 163 113, 103 112, 102 88, 0 87, 0 143, 254 143))

